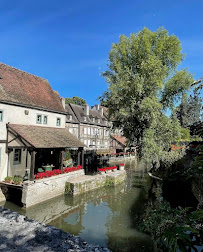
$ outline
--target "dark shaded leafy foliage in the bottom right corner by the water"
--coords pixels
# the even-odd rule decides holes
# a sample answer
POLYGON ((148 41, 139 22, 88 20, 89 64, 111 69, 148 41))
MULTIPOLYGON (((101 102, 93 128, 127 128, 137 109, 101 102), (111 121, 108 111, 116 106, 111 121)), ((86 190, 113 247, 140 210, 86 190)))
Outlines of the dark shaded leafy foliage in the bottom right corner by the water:
POLYGON ((203 222, 203 210, 191 212, 189 208, 171 208, 166 202, 158 202, 148 208, 141 231, 152 236, 158 251, 190 251, 198 244, 203 222))

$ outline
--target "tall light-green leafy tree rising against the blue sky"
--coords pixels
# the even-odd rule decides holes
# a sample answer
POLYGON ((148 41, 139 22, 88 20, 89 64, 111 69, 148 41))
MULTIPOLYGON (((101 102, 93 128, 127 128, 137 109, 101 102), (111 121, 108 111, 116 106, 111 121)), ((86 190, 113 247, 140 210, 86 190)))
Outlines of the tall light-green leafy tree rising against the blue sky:
POLYGON ((179 127, 177 120, 163 111, 173 109, 193 82, 186 69, 177 71, 183 57, 179 39, 164 28, 121 35, 119 43, 112 44, 108 69, 102 73, 109 86, 100 99, 140 154, 148 146, 158 155, 178 137, 179 132, 171 130, 179 127))

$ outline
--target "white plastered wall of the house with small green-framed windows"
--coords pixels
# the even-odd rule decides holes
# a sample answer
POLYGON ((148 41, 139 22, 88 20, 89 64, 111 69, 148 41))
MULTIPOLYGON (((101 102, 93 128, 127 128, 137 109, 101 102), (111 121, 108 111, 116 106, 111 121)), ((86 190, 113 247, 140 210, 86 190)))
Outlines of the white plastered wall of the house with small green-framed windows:
MULTIPOLYGON (((66 115, 2 103, 0 103, 0 111, 3 111, 3 113, 1 113, 2 120, 0 120, 0 181, 2 181, 6 176, 24 176, 26 168, 30 168, 30 154, 26 149, 21 149, 20 162, 14 161, 15 149, 9 154, 9 156, 6 153, 6 124, 11 123, 41 127, 65 128, 66 115), (41 123, 39 121, 39 115, 41 115, 41 123), (47 120, 44 120, 44 118, 47 120)), ((15 158, 18 157, 16 156, 15 158)))

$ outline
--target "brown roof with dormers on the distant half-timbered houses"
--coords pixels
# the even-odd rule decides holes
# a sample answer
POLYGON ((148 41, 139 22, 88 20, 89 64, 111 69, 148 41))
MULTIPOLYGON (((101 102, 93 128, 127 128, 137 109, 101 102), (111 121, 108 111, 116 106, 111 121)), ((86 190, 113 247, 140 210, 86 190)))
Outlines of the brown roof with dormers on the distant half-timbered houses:
POLYGON ((105 124, 106 118, 104 116, 102 116, 99 111, 94 110, 94 109, 89 109, 89 116, 86 116, 84 113, 83 106, 79 106, 76 104, 70 104, 70 107, 74 111, 74 113, 80 123, 87 123, 87 124, 98 125, 98 126, 106 126, 106 124, 105 124), (86 121, 84 120, 84 116, 86 117, 86 121), (95 120, 95 122, 93 122, 91 120, 91 118, 100 119, 100 123, 98 123, 97 120, 95 120))

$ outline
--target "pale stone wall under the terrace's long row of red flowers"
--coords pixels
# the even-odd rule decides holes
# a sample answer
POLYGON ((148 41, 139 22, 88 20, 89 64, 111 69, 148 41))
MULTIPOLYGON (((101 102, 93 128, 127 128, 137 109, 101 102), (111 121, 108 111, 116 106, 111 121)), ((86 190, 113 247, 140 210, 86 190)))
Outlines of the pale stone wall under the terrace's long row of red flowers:
POLYGON ((84 170, 23 183, 22 203, 30 207, 64 193, 68 180, 84 175, 84 170))

